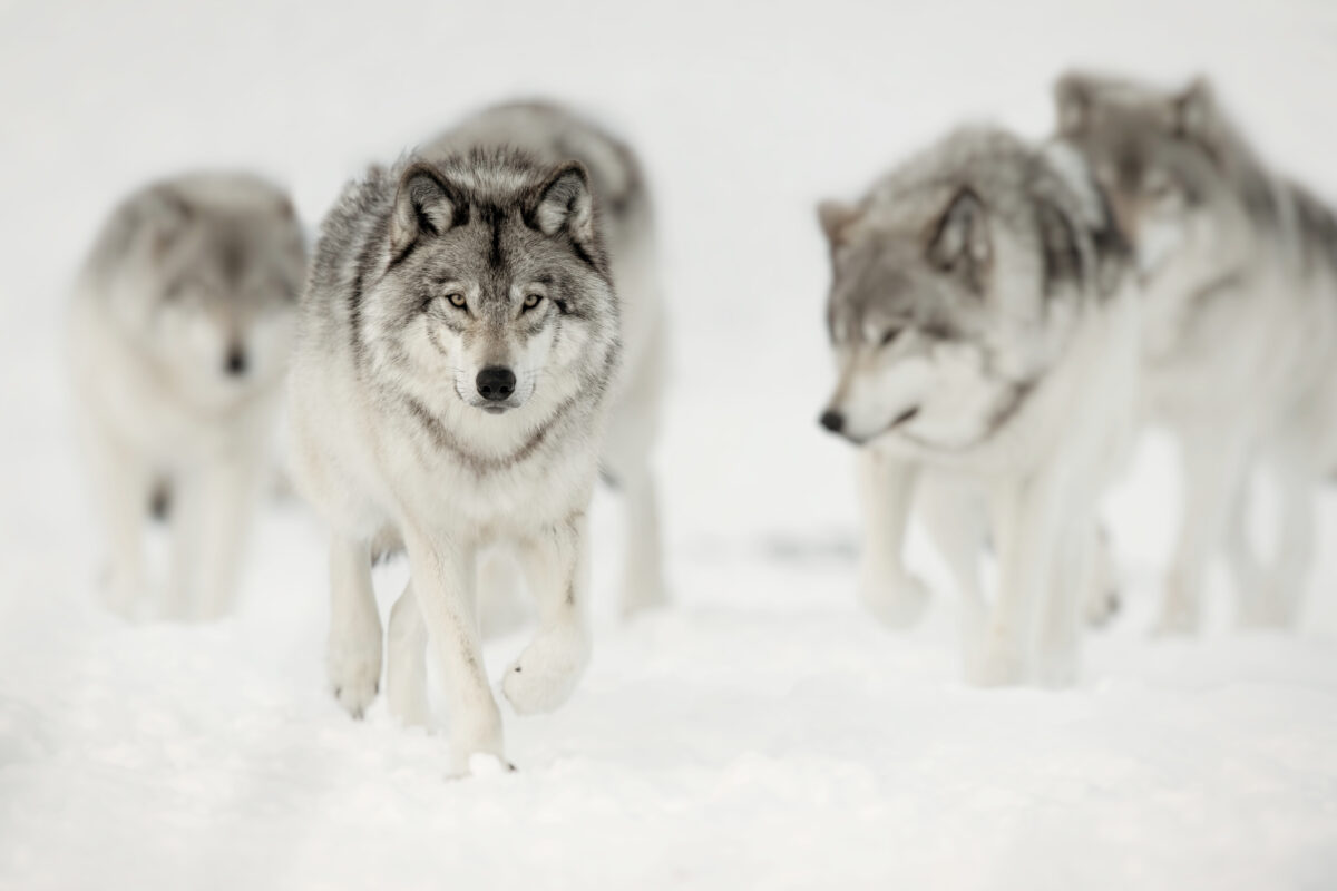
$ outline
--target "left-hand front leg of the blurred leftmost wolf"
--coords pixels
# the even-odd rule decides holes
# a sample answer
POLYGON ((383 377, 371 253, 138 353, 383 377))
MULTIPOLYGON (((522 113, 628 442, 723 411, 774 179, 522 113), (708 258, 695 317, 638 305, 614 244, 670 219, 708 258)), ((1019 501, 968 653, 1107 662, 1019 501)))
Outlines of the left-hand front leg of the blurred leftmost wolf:
POLYGON ((84 452, 98 518, 106 534, 103 600, 112 612, 131 618, 148 589, 144 524, 152 480, 143 462, 104 430, 86 431, 84 452))

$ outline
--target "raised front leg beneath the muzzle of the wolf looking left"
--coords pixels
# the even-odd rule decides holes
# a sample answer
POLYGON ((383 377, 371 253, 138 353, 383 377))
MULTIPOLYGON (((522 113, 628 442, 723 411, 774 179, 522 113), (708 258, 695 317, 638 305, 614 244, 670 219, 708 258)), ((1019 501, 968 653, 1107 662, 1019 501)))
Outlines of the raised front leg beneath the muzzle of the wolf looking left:
POLYGON ((858 453, 858 498, 864 514, 864 553, 858 598, 892 628, 913 625, 928 602, 928 588, 905 570, 905 528, 919 468, 864 449, 858 453))

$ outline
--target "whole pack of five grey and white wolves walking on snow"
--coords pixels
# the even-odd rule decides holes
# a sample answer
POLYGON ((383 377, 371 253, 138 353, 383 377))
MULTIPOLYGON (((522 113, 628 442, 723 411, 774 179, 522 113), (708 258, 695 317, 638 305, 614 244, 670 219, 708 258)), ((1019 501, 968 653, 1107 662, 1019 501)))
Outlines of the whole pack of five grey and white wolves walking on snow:
MULTIPOLYGON (((825 406, 796 411, 856 446, 858 598, 890 627, 923 613, 913 517, 985 687, 1075 681, 1083 627, 1118 606, 1099 506, 1140 429, 1169 430, 1182 461, 1161 633, 1199 627, 1217 557, 1242 627, 1294 625, 1337 469, 1337 218, 1202 79, 1068 73, 1055 100, 1043 142, 965 127, 817 214, 836 374, 825 406)), ((554 709, 590 660, 600 480, 624 513, 623 613, 668 601, 654 223, 632 150, 548 103, 370 167, 310 252, 285 191, 250 174, 131 194, 68 314, 107 605, 227 614, 281 450, 329 530, 334 697, 361 717, 384 664, 389 711, 427 724, 431 657, 451 772, 508 764, 496 693, 554 709), (382 625, 372 568, 393 554, 409 582, 382 625), (536 628, 495 693, 480 614, 519 589, 536 628)))

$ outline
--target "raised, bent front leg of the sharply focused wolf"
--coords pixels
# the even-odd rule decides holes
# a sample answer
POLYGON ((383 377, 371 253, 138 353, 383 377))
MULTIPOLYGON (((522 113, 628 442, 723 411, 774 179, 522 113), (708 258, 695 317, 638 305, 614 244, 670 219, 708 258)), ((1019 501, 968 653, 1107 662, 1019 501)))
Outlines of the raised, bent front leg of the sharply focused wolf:
POLYGON ((590 545, 578 512, 520 545, 520 560, 539 605, 539 631, 507 669, 501 689, 520 715, 548 712, 571 697, 590 663, 586 597, 590 545))

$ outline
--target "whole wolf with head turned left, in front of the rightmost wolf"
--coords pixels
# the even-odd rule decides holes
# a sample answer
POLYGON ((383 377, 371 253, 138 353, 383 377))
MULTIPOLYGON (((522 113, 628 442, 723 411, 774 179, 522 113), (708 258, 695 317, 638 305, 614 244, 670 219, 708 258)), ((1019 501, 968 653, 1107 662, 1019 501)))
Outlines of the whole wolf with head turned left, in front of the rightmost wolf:
POLYGON ((1135 405, 1138 305, 1102 195, 1062 146, 964 130, 820 215, 838 369, 821 422, 862 446, 862 600, 892 624, 917 613, 901 550, 927 476, 919 506, 961 586, 968 676, 1070 683, 1095 502, 1135 405))

